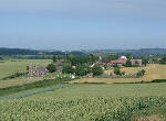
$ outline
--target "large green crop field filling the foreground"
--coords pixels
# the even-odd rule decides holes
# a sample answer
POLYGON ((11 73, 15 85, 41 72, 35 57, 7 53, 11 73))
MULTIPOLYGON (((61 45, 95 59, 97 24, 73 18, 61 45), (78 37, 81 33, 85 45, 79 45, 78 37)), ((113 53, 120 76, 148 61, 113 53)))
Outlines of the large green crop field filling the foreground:
POLYGON ((164 121, 165 91, 166 84, 75 85, 22 99, 0 100, 0 120, 136 121, 147 114, 164 121), (155 111, 151 112, 152 109, 155 111))

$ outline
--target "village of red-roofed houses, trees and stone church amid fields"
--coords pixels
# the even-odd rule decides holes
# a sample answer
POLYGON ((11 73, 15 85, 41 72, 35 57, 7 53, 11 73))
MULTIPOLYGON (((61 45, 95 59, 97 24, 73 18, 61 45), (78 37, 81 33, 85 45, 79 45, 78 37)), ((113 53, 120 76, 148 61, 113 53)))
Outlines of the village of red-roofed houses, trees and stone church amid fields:
MULTIPOLYGON (((71 78, 74 79, 75 77, 92 78, 96 76, 97 77, 103 76, 105 75, 104 74, 105 70, 113 69, 114 73, 107 74, 107 76, 114 78, 115 77, 123 78, 125 75, 126 77, 129 78, 132 76, 129 74, 126 74, 125 72, 121 72, 121 68, 143 67, 143 66, 145 66, 143 64, 143 59, 127 58, 124 55, 120 56, 116 59, 104 62, 102 56, 94 56, 91 54, 87 56, 70 56, 70 57, 53 56, 52 63, 49 64, 46 67, 30 64, 28 66, 28 70, 30 76, 44 77, 49 74, 59 73, 59 74, 71 74, 72 75, 71 78)), ((137 72, 137 74, 135 74, 133 78, 137 77, 137 75, 144 75, 138 73, 141 72, 137 72)))

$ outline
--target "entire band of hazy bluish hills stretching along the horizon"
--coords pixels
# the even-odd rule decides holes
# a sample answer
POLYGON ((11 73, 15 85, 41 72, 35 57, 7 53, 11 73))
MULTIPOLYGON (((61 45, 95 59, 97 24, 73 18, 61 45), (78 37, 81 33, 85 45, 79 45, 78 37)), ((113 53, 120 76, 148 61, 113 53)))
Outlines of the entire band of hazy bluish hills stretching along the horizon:
POLYGON ((142 48, 142 50, 96 50, 96 51, 38 51, 23 48, 0 48, 0 55, 84 55, 90 53, 131 54, 136 56, 160 56, 166 55, 166 48, 142 48))

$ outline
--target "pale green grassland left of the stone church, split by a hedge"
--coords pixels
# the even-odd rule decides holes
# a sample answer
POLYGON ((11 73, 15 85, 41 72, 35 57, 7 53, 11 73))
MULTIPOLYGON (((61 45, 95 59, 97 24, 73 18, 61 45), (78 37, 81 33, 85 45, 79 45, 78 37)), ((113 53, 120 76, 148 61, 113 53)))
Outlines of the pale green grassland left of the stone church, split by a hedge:
POLYGON ((51 61, 49 59, 22 59, 22 61, 3 61, 0 63, 0 88, 31 84, 34 81, 43 80, 39 77, 20 77, 14 79, 2 80, 2 78, 8 77, 17 72, 25 72, 29 64, 34 64, 35 66, 46 66, 51 61))

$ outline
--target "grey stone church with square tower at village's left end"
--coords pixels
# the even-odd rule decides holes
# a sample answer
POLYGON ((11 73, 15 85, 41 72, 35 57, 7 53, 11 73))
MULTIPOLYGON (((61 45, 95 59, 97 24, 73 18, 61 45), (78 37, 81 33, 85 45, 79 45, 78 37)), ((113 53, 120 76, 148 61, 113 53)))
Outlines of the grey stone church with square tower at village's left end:
POLYGON ((32 64, 29 66, 29 75, 30 76, 44 76, 48 74, 49 74, 49 70, 43 66, 35 67, 32 64))

